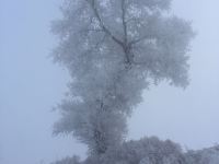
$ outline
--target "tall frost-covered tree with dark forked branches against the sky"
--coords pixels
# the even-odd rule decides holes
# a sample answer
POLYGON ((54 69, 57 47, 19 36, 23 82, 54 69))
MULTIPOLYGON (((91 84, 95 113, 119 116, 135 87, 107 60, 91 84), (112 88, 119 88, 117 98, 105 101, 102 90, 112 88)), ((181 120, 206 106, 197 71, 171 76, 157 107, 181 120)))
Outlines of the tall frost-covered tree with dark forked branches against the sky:
POLYGON ((72 80, 55 133, 103 154, 124 141, 127 116, 150 82, 188 84, 194 33, 170 7, 171 0, 65 0, 53 26, 60 38, 54 58, 72 80))

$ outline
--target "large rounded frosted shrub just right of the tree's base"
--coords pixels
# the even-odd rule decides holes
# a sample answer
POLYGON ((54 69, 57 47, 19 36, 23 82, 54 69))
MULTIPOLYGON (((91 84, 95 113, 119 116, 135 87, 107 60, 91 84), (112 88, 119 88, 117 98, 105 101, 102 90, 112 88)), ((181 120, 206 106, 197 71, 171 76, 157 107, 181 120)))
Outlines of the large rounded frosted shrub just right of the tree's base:
POLYGON ((110 148, 103 155, 102 164, 184 164, 181 147, 170 140, 161 141, 155 137, 139 141, 124 142, 120 147, 110 148))

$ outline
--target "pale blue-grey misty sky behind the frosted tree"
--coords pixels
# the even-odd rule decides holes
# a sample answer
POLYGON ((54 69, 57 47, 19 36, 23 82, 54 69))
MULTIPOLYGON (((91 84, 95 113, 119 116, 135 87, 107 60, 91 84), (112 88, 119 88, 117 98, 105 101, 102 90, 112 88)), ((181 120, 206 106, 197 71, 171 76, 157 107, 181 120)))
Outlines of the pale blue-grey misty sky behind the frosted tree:
MULTIPOLYGON (((84 155, 69 137, 53 137, 67 71, 48 57, 56 39, 50 21, 61 0, 0 0, 0 163, 39 164, 84 155)), ((129 139, 158 136, 187 149, 219 143, 219 2, 174 0, 173 12, 198 33, 191 55, 191 85, 162 83, 145 92, 129 121, 129 139)))

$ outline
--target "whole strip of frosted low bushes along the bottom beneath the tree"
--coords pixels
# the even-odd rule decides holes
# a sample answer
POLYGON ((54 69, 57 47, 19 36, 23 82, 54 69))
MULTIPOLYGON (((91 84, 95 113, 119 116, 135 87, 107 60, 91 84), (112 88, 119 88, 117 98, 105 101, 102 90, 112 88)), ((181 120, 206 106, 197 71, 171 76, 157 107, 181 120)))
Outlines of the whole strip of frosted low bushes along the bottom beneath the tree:
POLYGON ((178 144, 152 137, 124 142, 120 147, 110 148, 101 156, 91 155, 83 162, 73 156, 53 164, 218 164, 218 162, 219 147, 183 152, 178 144))

